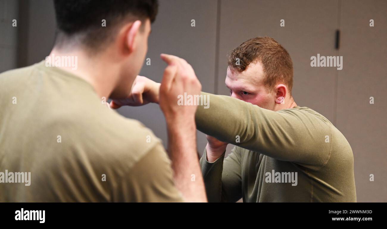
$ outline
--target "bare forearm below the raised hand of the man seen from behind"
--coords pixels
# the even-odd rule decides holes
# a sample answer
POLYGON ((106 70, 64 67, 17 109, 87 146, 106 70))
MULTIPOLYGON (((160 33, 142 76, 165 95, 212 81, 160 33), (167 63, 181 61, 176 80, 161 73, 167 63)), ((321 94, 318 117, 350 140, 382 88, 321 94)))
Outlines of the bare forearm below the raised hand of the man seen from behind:
POLYGON ((196 148, 194 117, 167 121, 175 184, 187 202, 207 202, 196 148))

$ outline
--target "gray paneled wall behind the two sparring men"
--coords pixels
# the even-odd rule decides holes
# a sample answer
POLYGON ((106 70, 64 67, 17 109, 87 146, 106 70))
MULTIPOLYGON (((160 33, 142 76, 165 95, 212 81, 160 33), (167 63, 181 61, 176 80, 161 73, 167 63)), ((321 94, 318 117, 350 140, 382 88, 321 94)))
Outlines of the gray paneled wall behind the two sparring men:
MULTIPOLYGON (((22 1, 19 10, 15 10, 18 1, 0 0, 0 6, 5 2, 7 10, 0 8, 1 34, 7 34, 0 38, 0 71, 45 58, 55 29, 51 1, 22 1), (15 32, 7 20, 19 14, 15 32)), ((387 83, 385 12, 384 0, 160 0, 149 38, 151 65, 144 65, 141 75, 160 82, 165 64, 159 54, 170 53, 191 63, 203 91, 227 95, 228 52, 252 37, 275 38, 293 59, 296 103, 326 116, 351 144, 358 202, 387 202, 386 105, 382 97, 387 83), (285 27, 280 27, 281 19, 285 27), (374 27, 369 26, 370 19, 374 27), (335 49, 336 29, 341 30, 339 50, 335 49), (310 67, 310 57, 317 53, 343 56, 343 69, 310 67), (375 104, 369 103, 371 96, 375 104), (369 180, 370 174, 375 181, 369 180)), ((119 112, 142 121, 166 145, 166 124, 157 105, 125 107, 119 112)), ((198 132, 200 154, 205 144, 204 134, 198 132)))

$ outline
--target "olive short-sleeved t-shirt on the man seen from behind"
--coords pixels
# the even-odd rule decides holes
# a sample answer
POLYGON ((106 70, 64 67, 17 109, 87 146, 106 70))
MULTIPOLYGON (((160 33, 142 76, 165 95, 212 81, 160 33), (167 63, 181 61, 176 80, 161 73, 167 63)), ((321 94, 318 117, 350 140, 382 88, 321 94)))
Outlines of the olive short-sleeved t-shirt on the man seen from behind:
POLYGON ((0 87, 0 202, 183 201, 161 140, 83 79, 42 61, 0 87))

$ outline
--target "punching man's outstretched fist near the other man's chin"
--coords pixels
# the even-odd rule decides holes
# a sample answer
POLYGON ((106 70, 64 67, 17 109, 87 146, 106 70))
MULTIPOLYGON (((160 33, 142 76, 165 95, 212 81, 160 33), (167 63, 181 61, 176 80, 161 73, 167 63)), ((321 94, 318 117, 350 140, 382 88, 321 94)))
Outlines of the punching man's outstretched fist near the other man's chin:
POLYGON ((129 97, 126 99, 114 99, 110 107, 118 109, 121 106, 142 106, 147 103, 159 102, 160 84, 144 76, 137 75, 130 90, 129 97))

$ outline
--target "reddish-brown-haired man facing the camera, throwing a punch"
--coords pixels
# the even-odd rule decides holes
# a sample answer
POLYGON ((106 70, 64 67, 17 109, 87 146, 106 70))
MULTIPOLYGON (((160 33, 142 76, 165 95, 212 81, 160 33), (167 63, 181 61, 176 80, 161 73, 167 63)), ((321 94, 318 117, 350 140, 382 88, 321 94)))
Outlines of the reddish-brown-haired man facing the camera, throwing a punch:
MULTIPOLYGON (((289 53, 272 38, 252 38, 231 51, 228 65, 230 96, 202 92, 211 103, 196 112, 208 140, 200 159, 208 200, 356 202, 351 146, 327 118, 297 106, 289 53), (236 146, 224 159, 228 144, 236 146)), ((149 94, 155 83, 147 83, 137 91, 149 94)))

